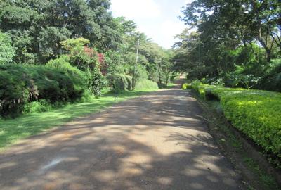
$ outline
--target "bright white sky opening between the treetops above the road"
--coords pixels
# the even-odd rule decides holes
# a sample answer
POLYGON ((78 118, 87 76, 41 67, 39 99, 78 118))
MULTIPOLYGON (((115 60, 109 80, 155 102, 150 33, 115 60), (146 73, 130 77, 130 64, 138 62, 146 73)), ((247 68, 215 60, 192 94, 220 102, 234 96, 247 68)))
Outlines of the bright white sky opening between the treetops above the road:
POLYGON ((114 17, 124 16, 138 25, 153 42, 165 49, 176 42, 185 25, 178 19, 188 0, 111 0, 114 17))

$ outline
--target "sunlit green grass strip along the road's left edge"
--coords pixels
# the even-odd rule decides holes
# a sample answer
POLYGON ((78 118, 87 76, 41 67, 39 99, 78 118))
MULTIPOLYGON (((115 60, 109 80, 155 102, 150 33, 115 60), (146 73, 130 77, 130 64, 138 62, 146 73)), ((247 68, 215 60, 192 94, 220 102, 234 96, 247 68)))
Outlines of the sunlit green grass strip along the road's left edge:
POLYGON ((147 94, 149 91, 155 90, 126 91, 119 94, 118 99, 115 94, 105 94, 100 99, 93 99, 87 103, 72 103, 44 113, 28 113, 15 119, 0 120, 0 151, 20 139, 63 125, 75 118, 96 113, 114 103, 147 94))

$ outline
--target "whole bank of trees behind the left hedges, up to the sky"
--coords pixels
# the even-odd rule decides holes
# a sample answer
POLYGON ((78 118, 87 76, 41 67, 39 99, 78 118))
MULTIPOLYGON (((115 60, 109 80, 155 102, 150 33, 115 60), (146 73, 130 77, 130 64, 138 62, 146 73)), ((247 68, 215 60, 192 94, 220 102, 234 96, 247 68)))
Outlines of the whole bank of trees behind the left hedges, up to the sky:
MULTIPOLYGON (((144 77, 167 84, 171 52, 150 42, 133 21, 113 18, 109 9, 108 0, 4 0, 0 2, 0 30, 11 37, 15 63, 44 64, 67 53, 71 65, 80 70, 92 69, 100 59, 103 75, 121 73, 136 81, 144 77)), ((102 78, 98 70, 91 74, 98 75, 93 76, 95 80, 102 78)), ((92 91, 99 96, 96 86, 92 91)))

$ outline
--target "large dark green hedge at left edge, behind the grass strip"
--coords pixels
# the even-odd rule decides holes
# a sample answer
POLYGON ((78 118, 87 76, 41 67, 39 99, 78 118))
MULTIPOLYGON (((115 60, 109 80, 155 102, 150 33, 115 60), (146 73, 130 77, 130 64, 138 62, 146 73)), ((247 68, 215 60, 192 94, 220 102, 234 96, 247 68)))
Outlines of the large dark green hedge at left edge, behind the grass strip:
POLYGON ((0 115, 22 113, 24 105, 38 99, 73 101, 84 93, 74 72, 30 65, 0 65, 0 115))

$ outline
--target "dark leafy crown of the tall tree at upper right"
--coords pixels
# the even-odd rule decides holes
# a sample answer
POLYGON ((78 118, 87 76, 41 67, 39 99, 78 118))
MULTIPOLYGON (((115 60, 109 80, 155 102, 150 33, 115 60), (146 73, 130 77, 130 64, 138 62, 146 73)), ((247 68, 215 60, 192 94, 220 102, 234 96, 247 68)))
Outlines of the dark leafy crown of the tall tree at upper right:
POLYGON ((273 44, 280 46, 278 0, 196 0, 183 11, 186 24, 197 27, 203 41, 224 42, 230 49, 256 39, 269 62, 273 44))

